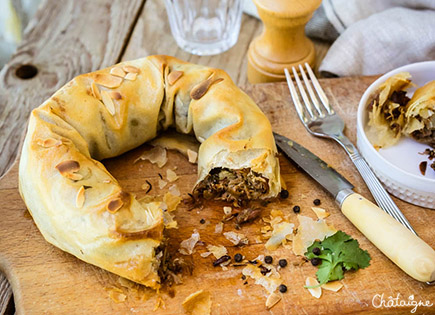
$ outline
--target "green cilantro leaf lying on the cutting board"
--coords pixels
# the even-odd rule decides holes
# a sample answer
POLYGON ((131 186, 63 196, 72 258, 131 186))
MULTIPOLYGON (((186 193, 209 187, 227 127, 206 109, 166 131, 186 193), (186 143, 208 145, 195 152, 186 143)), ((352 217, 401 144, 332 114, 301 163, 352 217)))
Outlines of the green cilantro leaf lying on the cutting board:
POLYGON ((343 231, 338 231, 321 242, 314 242, 308 247, 305 256, 310 260, 321 260, 316 273, 319 285, 343 279, 346 270, 364 269, 370 265, 371 259, 369 253, 359 247, 358 241, 343 231), (319 255, 313 253, 316 247, 320 249, 319 255))

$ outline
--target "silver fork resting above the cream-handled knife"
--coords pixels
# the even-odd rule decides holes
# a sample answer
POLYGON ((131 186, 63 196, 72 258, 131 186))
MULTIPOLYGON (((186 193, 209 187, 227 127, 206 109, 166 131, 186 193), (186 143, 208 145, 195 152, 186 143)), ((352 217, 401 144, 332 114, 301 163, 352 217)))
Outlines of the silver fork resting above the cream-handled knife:
POLYGON ((326 97, 325 92, 323 92, 323 89, 320 86, 319 81, 317 81, 317 78, 314 75, 313 70, 311 70, 311 67, 307 63, 305 63, 305 67, 307 69, 308 75, 310 76, 311 83, 308 80, 307 75, 305 74, 304 68, 299 65, 299 71, 302 75, 305 88, 299 78, 295 67, 292 68, 293 76, 298 86, 299 93, 302 96, 303 104, 305 106, 303 106, 300 101, 288 69, 285 69, 285 76, 287 79, 288 87, 290 89, 290 94, 292 96, 298 116, 302 121, 303 125, 308 130, 308 132, 315 136, 330 138, 337 141, 347 152, 352 162, 355 164, 356 168, 358 169, 359 173, 367 184, 367 187, 369 188, 379 207, 387 212, 389 215, 391 215, 394 219, 399 221, 401 224, 406 226, 415 235, 417 235, 411 224, 396 206, 396 204, 386 192, 384 187, 381 185, 366 161, 361 157, 357 148, 343 134, 343 120, 335 113, 334 109, 329 104, 329 100, 326 97), (314 86, 314 90, 317 93, 314 92, 312 85, 314 86), (310 98, 308 98, 307 92, 310 95, 310 98))

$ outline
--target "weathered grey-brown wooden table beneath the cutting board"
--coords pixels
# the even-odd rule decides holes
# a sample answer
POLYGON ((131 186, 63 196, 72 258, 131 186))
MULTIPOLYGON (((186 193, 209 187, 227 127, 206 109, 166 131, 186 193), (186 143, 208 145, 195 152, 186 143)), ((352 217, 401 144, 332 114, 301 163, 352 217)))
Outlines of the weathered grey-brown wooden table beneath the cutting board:
MULTIPOLYGON (((260 31, 261 23, 244 15, 239 40, 232 49, 199 57, 178 48, 161 0, 43 1, 22 45, 0 72, 0 175, 16 159, 30 111, 74 76, 122 60, 167 54, 222 68, 250 91, 246 52, 260 31)), ((315 45, 318 66, 329 45, 315 45)), ((0 314, 11 294, 0 273, 0 314)))

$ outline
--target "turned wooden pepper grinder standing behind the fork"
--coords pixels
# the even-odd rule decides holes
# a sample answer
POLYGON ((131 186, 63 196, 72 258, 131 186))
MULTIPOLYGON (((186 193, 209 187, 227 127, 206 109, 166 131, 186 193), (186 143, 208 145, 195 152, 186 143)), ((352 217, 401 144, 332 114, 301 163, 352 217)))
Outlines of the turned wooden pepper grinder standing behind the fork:
POLYGON ((314 45, 305 36, 305 24, 321 0, 253 0, 263 21, 263 33, 248 50, 251 83, 285 81, 284 68, 314 64, 314 45))

